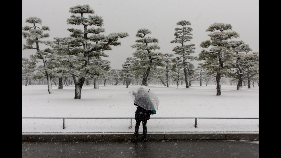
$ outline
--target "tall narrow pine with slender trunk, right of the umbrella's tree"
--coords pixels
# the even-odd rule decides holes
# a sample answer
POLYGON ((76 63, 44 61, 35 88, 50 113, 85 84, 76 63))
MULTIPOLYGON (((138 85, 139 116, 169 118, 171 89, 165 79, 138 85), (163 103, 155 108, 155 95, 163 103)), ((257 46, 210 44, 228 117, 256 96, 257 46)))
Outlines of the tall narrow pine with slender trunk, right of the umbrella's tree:
POLYGON ((179 55, 180 58, 182 58, 186 88, 189 88, 189 80, 191 79, 191 72, 190 69, 188 69, 188 65, 191 63, 188 60, 193 61, 194 59, 196 59, 196 57, 190 55, 192 53, 195 53, 195 44, 184 45, 185 42, 189 42, 192 39, 192 34, 190 32, 193 29, 191 27, 187 27, 188 25, 191 25, 191 23, 186 20, 177 22, 177 26, 181 27, 175 28, 175 40, 172 40, 170 42, 180 44, 180 46, 176 46, 173 51, 175 52, 175 54, 179 55))

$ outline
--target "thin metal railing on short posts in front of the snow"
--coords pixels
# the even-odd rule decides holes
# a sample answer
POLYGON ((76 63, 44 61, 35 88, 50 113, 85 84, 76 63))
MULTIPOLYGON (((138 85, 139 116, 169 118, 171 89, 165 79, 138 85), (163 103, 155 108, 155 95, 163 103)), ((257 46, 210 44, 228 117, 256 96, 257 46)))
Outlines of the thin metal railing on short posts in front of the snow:
MULTIPOLYGON (((134 117, 22 117, 24 119, 63 119, 63 129, 65 129, 65 119, 130 119, 130 127, 132 128, 132 119, 134 117)), ((259 119, 247 117, 151 117, 151 119, 195 119, 194 127, 197 128, 197 119, 259 119)))

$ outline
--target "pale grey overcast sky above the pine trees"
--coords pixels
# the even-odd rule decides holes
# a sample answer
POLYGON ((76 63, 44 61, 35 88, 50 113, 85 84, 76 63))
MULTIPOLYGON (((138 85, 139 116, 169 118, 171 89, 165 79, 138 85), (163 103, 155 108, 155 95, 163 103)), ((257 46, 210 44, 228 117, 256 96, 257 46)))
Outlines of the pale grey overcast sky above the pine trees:
MULTIPOLYGON (((258 0, 22 0, 22 27, 28 25, 26 18, 36 16, 42 19, 43 26, 50 28, 47 31, 50 38, 46 40, 67 37, 70 35, 67 28, 74 27, 66 22, 71 16, 69 8, 84 4, 103 17, 106 34, 129 34, 120 39, 120 46, 105 51, 109 57, 104 59, 111 62, 112 69, 121 69, 126 58, 132 56, 136 49, 130 46, 136 43, 135 34, 140 28, 151 30, 148 36, 159 40, 159 52, 174 53, 172 49, 177 44, 170 42, 175 38, 176 23, 181 20, 189 21, 193 28, 193 39, 186 44, 195 44, 194 56, 202 50, 200 43, 209 39, 206 29, 214 22, 231 24, 232 30, 240 34, 235 40, 243 40, 253 52, 259 51, 258 0)), ((25 44, 23 37, 22 44, 25 44)), ((22 50, 22 57, 29 58, 34 53, 35 50, 22 50)), ((194 62, 195 67, 197 63, 194 62)))

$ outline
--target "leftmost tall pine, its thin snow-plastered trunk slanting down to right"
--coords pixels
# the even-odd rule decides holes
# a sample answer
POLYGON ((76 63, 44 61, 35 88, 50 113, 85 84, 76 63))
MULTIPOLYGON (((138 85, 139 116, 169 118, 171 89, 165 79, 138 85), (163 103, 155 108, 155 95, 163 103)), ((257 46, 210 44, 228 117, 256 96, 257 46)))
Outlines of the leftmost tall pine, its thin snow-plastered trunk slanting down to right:
POLYGON ((42 25, 42 20, 38 17, 28 17, 26 18, 26 23, 32 24, 32 26, 22 27, 22 36, 26 38, 26 44, 23 45, 23 49, 36 50, 36 54, 30 55, 30 58, 34 63, 43 62, 43 66, 40 66, 39 70, 47 77, 49 94, 54 93, 52 89, 50 69, 47 64, 50 53, 47 51, 48 48, 45 50, 40 50, 39 48, 39 44, 44 43, 41 39, 48 38, 50 36, 48 33, 44 33, 44 31, 47 30, 50 31, 50 28, 48 26, 37 26, 38 24, 42 25), (42 61, 37 61, 37 59, 42 61))

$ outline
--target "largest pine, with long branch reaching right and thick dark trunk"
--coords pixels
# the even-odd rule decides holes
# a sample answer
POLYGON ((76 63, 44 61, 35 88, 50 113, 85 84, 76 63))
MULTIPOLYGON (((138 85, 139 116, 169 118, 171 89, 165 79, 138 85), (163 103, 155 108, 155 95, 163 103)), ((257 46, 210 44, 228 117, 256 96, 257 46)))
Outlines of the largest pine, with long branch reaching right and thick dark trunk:
MULTIPOLYGON (((120 45, 121 43, 118 42, 118 39, 127 37, 128 33, 103 35, 102 33, 105 31, 102 28, 104 20, 102 17, 94 15, 94 10, 89 5, 76 5, 71 7, 69 12, 72 15, 67 19, 67 24, 83 26, 83 30, 75 28, 67 29, 71 32, 70 36, 74 38, 71 47, 75 48, 69 53, 75 55, 76 61, 79 61, 77 67, 72 65, 76 71, 70 72, 75 83, 74 99, 81 99, 81 89, 85 79, 101 72, 101 69, 98 68, 101 65, 95 65, 95 60, 91 58, 93 57, 92 54, 94 52, 111 50, 110 46, 120 45), (85 15, 88 15, 88 17, 85 15), (89 26, 96 26, 96 28, 88 28, 89 26)), ((95 85, 97 80, 98 78, 95 79, 95 85)))

